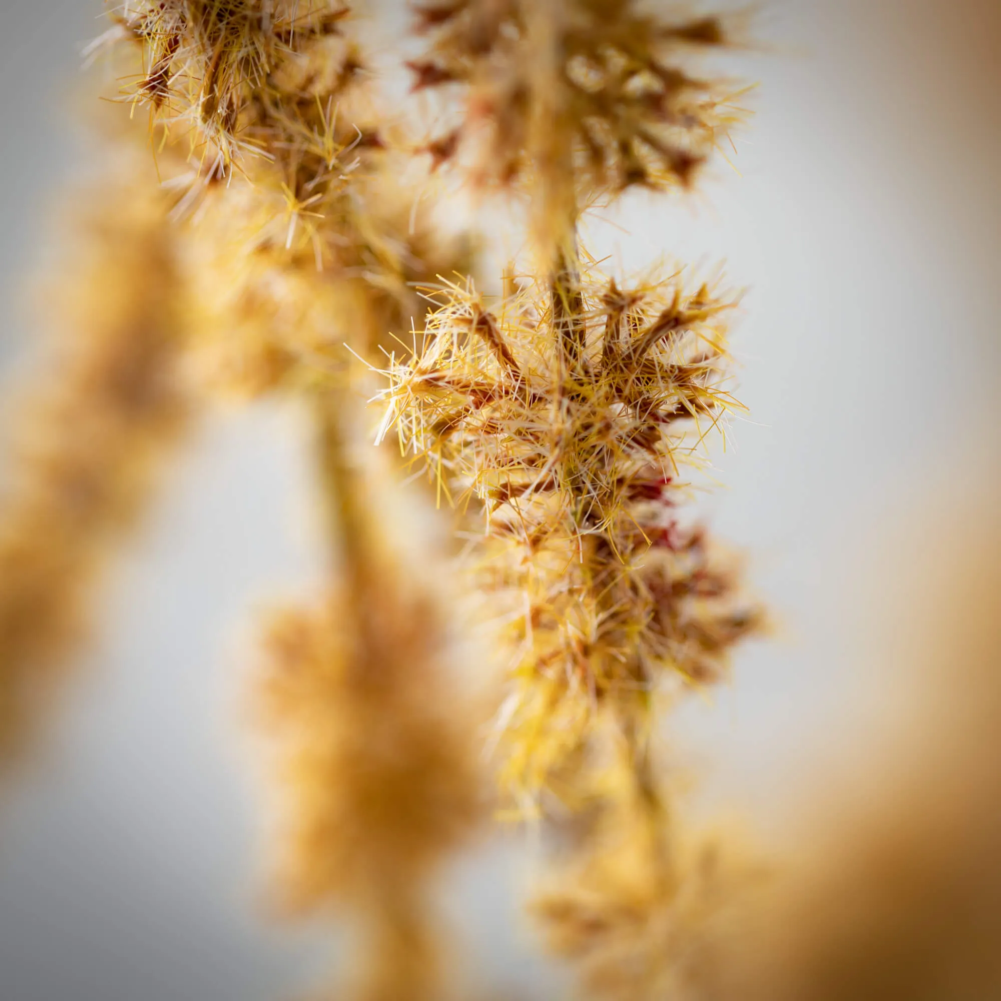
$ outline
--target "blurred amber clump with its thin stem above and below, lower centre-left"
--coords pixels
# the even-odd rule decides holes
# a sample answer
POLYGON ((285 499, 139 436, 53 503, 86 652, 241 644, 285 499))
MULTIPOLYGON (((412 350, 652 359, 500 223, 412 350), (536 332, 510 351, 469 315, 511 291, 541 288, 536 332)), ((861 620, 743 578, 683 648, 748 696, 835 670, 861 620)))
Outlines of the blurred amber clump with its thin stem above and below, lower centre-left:
POLYGON ((312 390, 336 585, 268 640, 265 678, 287 835, 279 887, 299 910, 333 906, 361 936, 348 996, 435 1001, 442 944, 428 884, 477 813, 467 721, 445 688, 433 602, 419 595, 352 455, 353 401, 312 390))

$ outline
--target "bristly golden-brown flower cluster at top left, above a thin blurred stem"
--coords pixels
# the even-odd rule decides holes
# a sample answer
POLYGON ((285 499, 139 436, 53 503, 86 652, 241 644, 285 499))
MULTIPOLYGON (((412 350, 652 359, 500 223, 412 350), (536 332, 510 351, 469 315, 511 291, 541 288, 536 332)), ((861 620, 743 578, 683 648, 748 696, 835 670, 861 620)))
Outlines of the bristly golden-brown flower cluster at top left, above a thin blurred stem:
POLYGON ((368 354, 423 311, 414 282, 469 267, 467 241, 432 226, 417 192, 396 179, 399 156, 383 140, 346 13, 326 2, 216 2, 119 15, 147 66, 164 32, 183 39, 174 58, 186 69, 163 86, 188 110, 162 117, 154 138, 177 192, 174 214, 186 222, 181 266, 202 368, 243 391, 340 367, 345 341, 368 354), (205 23, 207 34, 192 28, 205 23), (209 72, 197 67, 211 62, 206 39, 216 36, 239 39, 243 54, 220 50, 232 64, 225 103, 234 110, 215 123, 225 141, 206 143, 192 125, 205 99, 191 81, 209 72))

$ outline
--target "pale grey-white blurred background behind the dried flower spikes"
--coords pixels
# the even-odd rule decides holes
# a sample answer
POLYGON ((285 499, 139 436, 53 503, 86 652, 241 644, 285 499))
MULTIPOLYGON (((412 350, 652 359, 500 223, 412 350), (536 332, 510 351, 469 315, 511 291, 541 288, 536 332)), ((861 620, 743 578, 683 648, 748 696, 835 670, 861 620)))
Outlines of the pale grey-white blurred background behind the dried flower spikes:
MULTIPOLYGON (((70 97, 100 10, 4 5, 8 384, 30 358, 21 303, 51 195, 80 162, 70 97)), ((804 776, 847 767, 893 726, 899 695, 875 637, 892 633, 883 582, 899 525, 929 504, 962 511, 994 481, 1001 5, 785 0, 765 5, 758 34, 769 51, 747 62, 760 87, 739 173, 724 164, 694 205, 638 200, 617 219, 628 237, 594 236, 626 270, 726 259, 750 287, 735 348, 751 417, 716 456, 727 488, 704 510, 747 553, 780 630, 677 729, 700 809, 743 814, 778 842, 804 776)), ((326 969, 323 930, 263 917, 240 731, 239 631, 317 574, 298 430, 278 408, 203 424, 121 561, 108 627, 0 815, 3 1001, 264 1001, 326 969)), ((462 862, 448 907, 470 965, 552 997, 518 917, 514 855, 462 862)))

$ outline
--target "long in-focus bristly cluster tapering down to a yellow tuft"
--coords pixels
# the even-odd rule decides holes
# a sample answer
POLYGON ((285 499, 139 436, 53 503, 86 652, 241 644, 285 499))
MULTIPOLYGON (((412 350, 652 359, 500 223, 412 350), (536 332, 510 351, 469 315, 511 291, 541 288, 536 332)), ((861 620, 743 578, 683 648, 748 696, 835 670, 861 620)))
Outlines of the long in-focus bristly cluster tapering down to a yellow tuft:
POLYGON ((677 275, 531 286, 492 307, 440 294, 423 352, 392 368, 387 423, 488 510, 480 576, 516 617, 508 778, 529 794, 604 710, 639 736, 665 679, 719 679, 756 624, 677 511, 684 463, 737 406, 722 369, 733 302, 677 275))

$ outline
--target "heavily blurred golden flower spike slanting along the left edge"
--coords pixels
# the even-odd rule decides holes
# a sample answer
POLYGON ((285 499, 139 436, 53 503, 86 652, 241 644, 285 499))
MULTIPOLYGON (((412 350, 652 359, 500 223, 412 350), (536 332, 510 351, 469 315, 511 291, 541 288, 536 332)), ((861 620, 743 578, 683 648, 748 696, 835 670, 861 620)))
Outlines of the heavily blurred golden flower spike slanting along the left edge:
POLYGON ((168 206, 135 172, 129 160, 87 193, 46 289, 54 357, 19 413, 0 500, 0 767, 30 747, 192 405, 168 206))

